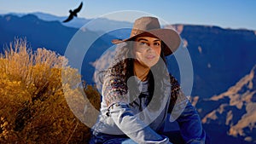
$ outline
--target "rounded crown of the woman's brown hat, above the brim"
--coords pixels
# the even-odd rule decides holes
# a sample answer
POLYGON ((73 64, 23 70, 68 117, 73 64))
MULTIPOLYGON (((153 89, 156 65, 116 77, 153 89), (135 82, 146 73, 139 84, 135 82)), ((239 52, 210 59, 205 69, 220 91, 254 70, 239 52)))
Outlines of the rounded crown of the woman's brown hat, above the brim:
POLYGON ((159 20, 155 17, 142 17, 135 20, 134 25, 131 30, 131 37, 136 36, 142 32, 147 32, 149 30, 159 29, 159 20))

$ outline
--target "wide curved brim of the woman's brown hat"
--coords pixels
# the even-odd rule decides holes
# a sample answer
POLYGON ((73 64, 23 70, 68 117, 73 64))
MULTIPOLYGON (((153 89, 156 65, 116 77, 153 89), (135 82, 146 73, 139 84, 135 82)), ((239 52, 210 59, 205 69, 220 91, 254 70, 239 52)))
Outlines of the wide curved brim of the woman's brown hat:
POLYGON ((181 38, 172 29, 154 29, 147 32, 142 32, 140 34, 137 34, 133 37, 129 37, 127 39, 113 39, 112 43, 118 44, 123 43, 127 41, 133 41, 136 37, 143 37, 143 36, 149 36, 149 37, 158 37, 161 41, 163 41, 166 44, 166 47, 164 47, 164 54, 166 56, 172 55, 179 47, 181 43, 181 38))

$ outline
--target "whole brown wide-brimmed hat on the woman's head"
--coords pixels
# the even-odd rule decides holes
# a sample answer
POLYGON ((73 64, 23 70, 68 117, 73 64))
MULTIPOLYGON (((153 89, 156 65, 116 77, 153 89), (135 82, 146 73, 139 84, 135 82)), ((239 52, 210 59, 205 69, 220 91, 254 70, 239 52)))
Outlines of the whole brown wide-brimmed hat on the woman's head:
POLYGON ((177 32, 172 29, 163 29, 160 28, 160 22, 155 17, 142 17, 135 20, 131 35, 127 39, 113 39, 112 43, 122 43, 127 41, 133 41, 135 37, 143 37, 143 36, 151 36, 151 37, 158 37, 162 40, 166 46, 164 47, 164 54, 172 55, 181 42, 181 39, 177 32))

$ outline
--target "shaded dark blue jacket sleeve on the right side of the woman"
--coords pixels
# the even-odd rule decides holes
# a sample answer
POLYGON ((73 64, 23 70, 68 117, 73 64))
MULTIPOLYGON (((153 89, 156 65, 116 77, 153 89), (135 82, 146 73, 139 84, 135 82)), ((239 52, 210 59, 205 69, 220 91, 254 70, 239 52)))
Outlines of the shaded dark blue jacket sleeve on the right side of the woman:
POLYGON ((189 99, 183 94, 179 84, 175 78, 171 77, 172 84, 172 100, 169 106, 171 113, 170 121, 177 121, 180 127, 183 140, 189 144, 205 143, 206 134, 202 129, 201 118, 195 107, 191 105, 189 99), (171 108, 170 108, 171 107, 171 108))

